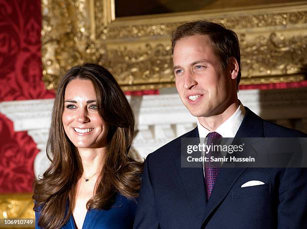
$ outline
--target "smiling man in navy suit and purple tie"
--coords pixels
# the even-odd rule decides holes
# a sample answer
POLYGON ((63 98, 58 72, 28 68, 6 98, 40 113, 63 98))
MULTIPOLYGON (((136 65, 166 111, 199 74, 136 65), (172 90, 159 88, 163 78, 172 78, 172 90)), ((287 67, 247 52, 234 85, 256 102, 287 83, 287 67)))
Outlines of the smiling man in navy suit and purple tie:
POLYGON ((176 87, 198 123, 147 156, 134 228, 307 228, 305 168, 206 172, 181 166, 183 137, 306 135, 263 120, 240 103, 235 32, 214 22, 189 22, 173 33, 172 45, 176 87), (260 185, 248 186, 252 182, 260 185))

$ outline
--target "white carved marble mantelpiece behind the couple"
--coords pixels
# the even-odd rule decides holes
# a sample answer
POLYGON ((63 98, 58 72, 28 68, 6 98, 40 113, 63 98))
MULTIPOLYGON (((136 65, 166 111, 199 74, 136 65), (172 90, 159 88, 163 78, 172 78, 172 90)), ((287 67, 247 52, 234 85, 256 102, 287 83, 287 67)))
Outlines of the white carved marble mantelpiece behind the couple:
MULTIPOLYGON (((245 106, 261 117, 307 131, 307 88, 241 90, 238 96, 245 106)), ((127 99, 135 114, 132 151, 140 157, 146 157, 196 126, 196 118, 185 108, 177 93, 127 96, 127 99)), ((46 143, 52 106, 53 99, 0 103, 0 112, 14 122, 14 130, 28 131, 40 149, 34 162, 36 175, 48 165, 46 143)))

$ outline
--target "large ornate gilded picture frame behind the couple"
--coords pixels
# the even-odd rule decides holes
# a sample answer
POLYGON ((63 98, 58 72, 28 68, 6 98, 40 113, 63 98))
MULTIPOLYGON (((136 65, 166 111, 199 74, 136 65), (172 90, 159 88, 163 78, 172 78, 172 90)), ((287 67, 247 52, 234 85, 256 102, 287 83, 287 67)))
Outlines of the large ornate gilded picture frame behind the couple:
POLYGON ((54 88, 73 65, 107 67, 124 90, 174 86, 170 35, 185 21, 234 29, 241 84, 300 81, 307 64, 307 3, 115 18, 113 0, 43 0, 44 81, 54 88))

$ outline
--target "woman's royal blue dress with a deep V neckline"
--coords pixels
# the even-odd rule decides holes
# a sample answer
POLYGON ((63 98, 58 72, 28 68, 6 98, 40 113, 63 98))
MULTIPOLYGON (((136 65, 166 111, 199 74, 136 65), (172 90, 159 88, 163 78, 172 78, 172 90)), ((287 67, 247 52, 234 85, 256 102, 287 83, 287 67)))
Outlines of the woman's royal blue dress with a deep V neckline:
MULTIPOLYGON (((117 194, 115 197, 115 202, 113 203, 110 209, 102 210, 102 209, 93 208, 87 210, 82 229, 132 228, 135 216, 135 210, 136 210, 136 202, 134 200, 130 200, 121 194, 117 194)), ((41 228, 40 226, 38 226, 39 217, 40 217, 40 212, 35 211, 36 229, 41 228)), ((76 229, 73 215, 70 216, 67 223, 61 228, 76 229)))

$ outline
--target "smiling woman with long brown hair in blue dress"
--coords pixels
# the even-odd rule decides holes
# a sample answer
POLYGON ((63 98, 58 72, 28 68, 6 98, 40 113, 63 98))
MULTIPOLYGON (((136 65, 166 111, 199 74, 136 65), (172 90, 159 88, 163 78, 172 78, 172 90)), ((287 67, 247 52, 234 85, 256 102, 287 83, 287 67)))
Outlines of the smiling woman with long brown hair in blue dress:
POLYGON ((62 78, 47 142, 50 167, 34 183, 36 228, 131 228, 142 164, 129 157, 134 116, 97 64, 62 78))

